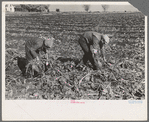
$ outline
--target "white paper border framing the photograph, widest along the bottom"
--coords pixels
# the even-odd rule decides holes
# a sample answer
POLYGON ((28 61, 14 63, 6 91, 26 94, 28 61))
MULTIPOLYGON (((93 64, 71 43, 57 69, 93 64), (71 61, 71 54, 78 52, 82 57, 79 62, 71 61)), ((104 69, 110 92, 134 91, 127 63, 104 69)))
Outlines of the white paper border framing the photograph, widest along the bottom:
POLYGON ((129 4, 129 2, 2 2, 2 120, 147 120, 147 16, 145 16, 145 100, 5 100, 5 4, 129 4))

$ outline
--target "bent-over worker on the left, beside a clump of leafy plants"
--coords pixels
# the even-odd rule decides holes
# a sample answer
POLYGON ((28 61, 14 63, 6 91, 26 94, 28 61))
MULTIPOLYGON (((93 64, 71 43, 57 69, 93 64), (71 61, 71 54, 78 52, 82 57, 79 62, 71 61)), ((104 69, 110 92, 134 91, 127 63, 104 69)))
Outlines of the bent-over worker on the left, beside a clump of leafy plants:
MULTIPOLYGON (((54 38, 44 39, 44 38, 30 38, 25 43, 25 52, 27 64, 31 61, 35 61, 35 65, 32 66, 32 69, 36 71, 36 74, 41 73, 40 64, 42 53, 46 54, 46 58, 48 59, 49 49, 53 45, 54 38)), ((47 63, 47 62, 46 62, 47 63)), ((48 64, 46 64, 48 65, 48 64)))

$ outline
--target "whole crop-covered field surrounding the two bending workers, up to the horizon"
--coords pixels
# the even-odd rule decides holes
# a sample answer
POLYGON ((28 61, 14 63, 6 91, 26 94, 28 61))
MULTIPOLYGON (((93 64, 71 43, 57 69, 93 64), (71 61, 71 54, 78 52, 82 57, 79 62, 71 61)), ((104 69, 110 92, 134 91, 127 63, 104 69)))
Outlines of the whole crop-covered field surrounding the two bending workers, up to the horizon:
POLYGON ((141 13, 6 16, 6 99, 145 99, 144 21, 141 13), (97 25, 98 32, 114 35, 111 48, 105 49, 112 70, 108 66, 101 71, 84 65, 76 68, 83 56, 76 33, 97 25), (55 38, 52 65, 41 78, 25 78, 13 58, 25 57, 25 40, 40 35, 55 38))

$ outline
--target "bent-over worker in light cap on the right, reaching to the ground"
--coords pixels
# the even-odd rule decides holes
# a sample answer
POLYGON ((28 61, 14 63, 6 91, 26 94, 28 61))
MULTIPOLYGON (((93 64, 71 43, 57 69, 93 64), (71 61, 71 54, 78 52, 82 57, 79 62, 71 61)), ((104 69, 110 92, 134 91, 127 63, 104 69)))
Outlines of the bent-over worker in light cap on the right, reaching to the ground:
POLYGON ((109 43, 109 37, 107 35, 93 31, 88 31, 81 35, 79 44, 84 52, 83 63, 86 65, 89 60, 94 70, 101 69, 102 64, 99 61, 99 57, 102 56, 105 61, 103 46, 106 43, 109 43))

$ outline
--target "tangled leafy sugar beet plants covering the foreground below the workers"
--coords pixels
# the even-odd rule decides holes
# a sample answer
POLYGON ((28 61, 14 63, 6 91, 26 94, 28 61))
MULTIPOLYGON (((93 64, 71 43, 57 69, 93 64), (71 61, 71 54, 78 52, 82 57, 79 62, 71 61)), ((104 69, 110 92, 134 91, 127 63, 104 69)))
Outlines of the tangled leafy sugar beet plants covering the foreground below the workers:
POLYGON ((141 63, 144 57, 139 54, 140 51, 133 55, 133 49, 126 49, 121 45, 122 42, 120 44, 113 41, 105 47, 108 63, 100 59, 103 66, 98 71, 92 70, 89 62, 85 66, 79 63, 79 59, 57 56, 51 51, 48 59, 43 55, 40 64, 37 65, 36 60, 31 61, 26 67, 26 76, 20 75, 14 60, 24 52, 18 53, 15 49, 7 48, 6 99, 144 99, 145 68, 144 63, 141 63), (37 69, 37 66, 40 68, 37 69), (40 70, 40 75, 34 77, 36 70, 40 70))

